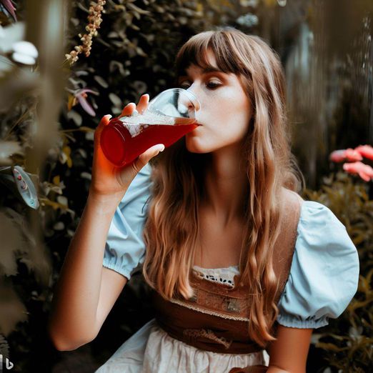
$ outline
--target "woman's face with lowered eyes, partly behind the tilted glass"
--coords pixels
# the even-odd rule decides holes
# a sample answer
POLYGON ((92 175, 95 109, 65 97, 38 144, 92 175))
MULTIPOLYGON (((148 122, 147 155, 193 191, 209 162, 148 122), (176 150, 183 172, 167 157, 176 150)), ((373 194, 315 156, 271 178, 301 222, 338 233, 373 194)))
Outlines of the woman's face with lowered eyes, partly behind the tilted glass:
MULTIPOLYGON (((212 51, 208 62, 217 69, 212 51)), ((233 144, 240 144, 249 128, 252 107, 237 75, 203 71, 192 64, 186 76, 179 76, 179 86, 192 91, 202 109, 197 111, 199 124, 186 134, 186 149, 193 153, 209 153, 233 144)))

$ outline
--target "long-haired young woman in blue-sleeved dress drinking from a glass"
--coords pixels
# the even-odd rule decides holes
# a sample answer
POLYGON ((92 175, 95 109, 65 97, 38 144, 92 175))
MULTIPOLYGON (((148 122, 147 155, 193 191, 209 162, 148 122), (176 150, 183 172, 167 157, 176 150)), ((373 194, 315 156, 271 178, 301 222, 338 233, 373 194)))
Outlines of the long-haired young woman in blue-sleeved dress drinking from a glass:
POLYGON ((176 72, 201 103, 197 129, 123 169, 99 145, 109 116, 96 130, 51 339, 60 350, 94 339, 141 262, 156 318, 97 372, 305 372, 312 329, 347 307, 359 261, 334 214, 297 194, 279 58, 224 28, 189 39, 176 72))

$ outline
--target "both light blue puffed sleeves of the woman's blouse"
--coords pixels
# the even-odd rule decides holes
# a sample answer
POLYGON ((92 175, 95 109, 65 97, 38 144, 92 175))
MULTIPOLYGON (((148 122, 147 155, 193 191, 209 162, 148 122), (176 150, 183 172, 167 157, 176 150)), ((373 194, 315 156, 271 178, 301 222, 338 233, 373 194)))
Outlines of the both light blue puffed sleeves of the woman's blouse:
MULTIPOLYGON (((144 261, 142 239, 150 197, 151 168, 141 169, 121 200, 106 239, 104 267, 127 279, 144 261)), ((330 209, 305 201, 297 227, 292 267, 279 299, 277 322, 319 328, 339 317, 357 292, 359 257, 344 225, 330 209)))

